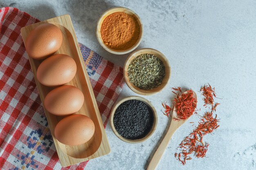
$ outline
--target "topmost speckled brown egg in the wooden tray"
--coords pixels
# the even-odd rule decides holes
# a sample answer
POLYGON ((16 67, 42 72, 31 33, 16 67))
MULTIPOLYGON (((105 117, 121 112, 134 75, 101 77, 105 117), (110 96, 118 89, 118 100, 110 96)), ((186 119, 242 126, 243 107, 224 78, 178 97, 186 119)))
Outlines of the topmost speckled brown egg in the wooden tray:
POLYGON ((54 54, 62 43, 62 32, 54 24, 40 24, 28 35, 25 46, 29 57, 43 59, 54 54))

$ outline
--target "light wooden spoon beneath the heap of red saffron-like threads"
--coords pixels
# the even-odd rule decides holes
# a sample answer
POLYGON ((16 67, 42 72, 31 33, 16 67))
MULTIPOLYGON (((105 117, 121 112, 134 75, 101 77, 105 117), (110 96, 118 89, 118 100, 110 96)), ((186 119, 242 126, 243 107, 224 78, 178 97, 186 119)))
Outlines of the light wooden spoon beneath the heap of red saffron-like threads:
MULTIPOLYGON (((187 93, 187 92, 184 92, 187 93)), ((183 93, 183 94, 184 94, 183 93)), ((197 96, 195 92, 193 91, 193 96, 195 97, 195 100, 197 101, 197 96)), ((176 105, 175 105, 176 106, 176 105)), ((173 118, 177 118, 177 112, 176 112, 176 107, 174 106, 173 108, 173 114, 171 117, 171 124, 166 132, 166 135, 164 139, 162 140, 161 144, 158 146, 157 150, 155 151, 155 154, 153 155, 150 163, 148 164, 147 170, 155 170, 157 167, 157 164, 159 163, 162 155, 164 154, 164 150, 166 149, 169 141, 171 140, 171 137, 173 136, 174 132, 182 126, 189 118, 185 120, 180 120, 180 121, 175 121, 173 118)))

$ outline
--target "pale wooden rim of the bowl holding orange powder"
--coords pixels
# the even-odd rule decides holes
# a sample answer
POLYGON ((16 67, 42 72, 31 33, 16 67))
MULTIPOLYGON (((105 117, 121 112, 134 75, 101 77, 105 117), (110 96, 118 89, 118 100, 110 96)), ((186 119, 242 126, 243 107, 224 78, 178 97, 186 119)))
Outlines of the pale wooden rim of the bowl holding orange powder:
MULTIPOLYGON (((110 13, 110 14, 112 14, 110 13)), ((110 15, 108 14, 108 15, 110 15)), ((105 18, 104 18, 105 19, 105 18)), ((97 37, 97 40, 99 42, 99 44, 103 47, 103 49, 105 49, 106 51, 108 51, 109 53, 112 53, 112 54, 117 54, 117 55, 121 55, 121 54, 127 54, 127 53, 130 53, 131 51, 135 50, 137 48, 137 46, 139 46, 139 44, 141 43, 141 40, 142 40, 142 37, 143 37, 143 33, 144 33, 144 29, 143 29, 143 24, 141 22, 141 19, 139 18, 139 15, 137 15, 137 13, 135 13, 134 11, 132 11, 131 9, 128 9, 126 7, 113 7, 113 8, 110 8, 108 10, 106 10, 99 18, 99 20, 97 21, 97 26, 96 26, 96 37, 97 37), (136 20, 138 22, 138 24, 140 25, 140 33, 139 33, 139 39, 137 40, 137 42, 131 46, 129 49, 126 49, 126 50, 114 50, 114 49, 110 49, 108 46, 106 46, 101 38, 101 33, 100 33, 100 29, 101 29, 101 20, 103 20, 104 16, 113 11, 112 13, 115 13, 116 9, 120 9, 120 10, 123 10, 123 12, 125 11, 129 11, 130 13, 132 13, 133 15, 136 16, 136 20)))

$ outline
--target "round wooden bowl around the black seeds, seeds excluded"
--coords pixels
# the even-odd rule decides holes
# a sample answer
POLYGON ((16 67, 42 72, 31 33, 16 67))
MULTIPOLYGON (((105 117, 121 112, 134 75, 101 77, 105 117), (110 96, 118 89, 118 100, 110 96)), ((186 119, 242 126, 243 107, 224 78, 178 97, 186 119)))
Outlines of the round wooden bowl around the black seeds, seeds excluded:
POLYGON ((154 106, 147 99, 145 99, 143 97, 139 97, 139 96, 126 97, 126 98, 122 99, 121 101, 117 102, 115 104, 115 106, 113 107, 113 109, 111 111, 111 115, 110 115, 110 125, 111 125, 113 132, 119 139, 121 139, 122 141, 125 141, 127 143, 130 143, 130 144, 137 144, 137 143, 146 141, 155 132, 155 129, 157 128, 157 111, 155 110, 154 106), (117 132, 117 130, 114 126, 114 115, 115 115, 115 112, 120 104, 124 103, 127 100, 134 100, 134 99, 145 102, 145 104, 151 108, 151 110, 153 112, 154 122, 153 122, 153 126, 152 126, 151 130, 148 132, 148 134, 145 137, 143 137, 141 139, 132 140, 132 139, 126 139, 126 138, 122 137, 121 135, 119 135, 119 133, 117 132))

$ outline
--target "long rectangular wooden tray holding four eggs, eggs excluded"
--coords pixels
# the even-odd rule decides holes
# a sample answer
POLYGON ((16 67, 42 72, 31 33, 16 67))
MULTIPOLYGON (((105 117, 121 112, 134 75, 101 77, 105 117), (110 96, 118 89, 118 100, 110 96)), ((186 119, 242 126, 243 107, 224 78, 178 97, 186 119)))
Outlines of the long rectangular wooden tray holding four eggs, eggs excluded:
MULTIPOLYGON (((110 153, 110 146, 108 144, 108 139, 106 136, 104 126, 102 124, 101 115, 99 113, 94 93, 92 91, 92 86, 90 84, 90 79, 88 77, 86 67, 83 62, 83 57, 76 39, 70 15, 62 15, 59 17, 55 17, 49 20, 45 20, 42 22, 38 22, 36 24, 23 27, 21 29, 23 41, 26 41, 27 36, 29 35, 30 31, 32 31, 32 29, 43 23, 52 23, 61 29, 63 33, 63 42, 61 48, 58 49, 56 53, 71 56, 75 60, 77 66, 75 77, 72 79, 71 82, 67 84, 76 86, 83 92, 83 95, 85 96, 83 107, 76 114, 86 115, 90 117, 95 124, 95 132, 90 141, 78 146, 64 145, 61 144, 54 136, 54 128, 58 121, 61 120, 61 117, 50 114, 44 108, 49 128, 52 132, 52 138, 54 140, 58 157, 61 161, 61 166, 70 166, 75 163, 80 163, 83 161, 87 161, 89 159, 106 155, 110 153)), ((43 60, 34 60, 31 57, 29 57, 29 62, 34 73, 40 98, 42 102, 44 102, 45 96, 53 88, 40 84, 38 82, 38 79, 36 78, 37 68, 42 61, 43 60)))

